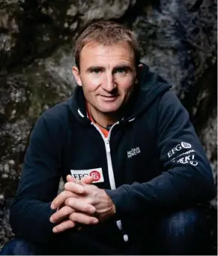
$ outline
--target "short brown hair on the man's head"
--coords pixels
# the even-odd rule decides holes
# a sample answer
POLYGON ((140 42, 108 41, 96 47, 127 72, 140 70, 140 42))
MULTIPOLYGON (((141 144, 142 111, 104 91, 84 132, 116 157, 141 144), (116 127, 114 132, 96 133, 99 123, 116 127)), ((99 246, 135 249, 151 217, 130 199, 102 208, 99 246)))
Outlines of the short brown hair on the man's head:
POLYGON ((87 26, 86 29, 79 35, 75 44, 75 62, 79 68, 79 57, 82 48, 89 42, 97 42, 103 45, 112 45, 119 42, 127 42, 135 55, 136 65, 139 65, 140 53, 136 35, 127 29, 127 27, 112 22, 98 21, 87 26))

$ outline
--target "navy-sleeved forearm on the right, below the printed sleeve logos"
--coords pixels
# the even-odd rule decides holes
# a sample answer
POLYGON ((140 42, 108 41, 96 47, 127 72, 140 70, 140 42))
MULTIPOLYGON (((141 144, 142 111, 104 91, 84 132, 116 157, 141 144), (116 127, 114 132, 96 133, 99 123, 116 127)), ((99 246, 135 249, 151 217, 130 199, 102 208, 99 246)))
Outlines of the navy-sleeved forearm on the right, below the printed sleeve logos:
POLYGON ((117 218, 142 215, 152 209, 167 209, 210 200, 214 197, 213 180, 208 182, 196 170, 175 168, 151 179, 150 182, 121 185, 106 190, 115 203, 117 218))

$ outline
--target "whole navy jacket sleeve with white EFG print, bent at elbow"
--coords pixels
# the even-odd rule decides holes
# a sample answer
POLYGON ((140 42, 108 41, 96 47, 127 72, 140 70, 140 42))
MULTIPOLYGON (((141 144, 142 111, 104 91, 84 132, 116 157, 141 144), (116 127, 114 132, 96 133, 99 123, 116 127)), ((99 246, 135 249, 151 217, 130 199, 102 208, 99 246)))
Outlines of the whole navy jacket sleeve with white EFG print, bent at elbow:
POLYGON ((163 173, 149 182, 106 190, 120 218, 154 208, 202 203, 215 196, 208 159, 187 110, 173 92, 166 92, 160 99, 157 117, 157 146, 163 173))

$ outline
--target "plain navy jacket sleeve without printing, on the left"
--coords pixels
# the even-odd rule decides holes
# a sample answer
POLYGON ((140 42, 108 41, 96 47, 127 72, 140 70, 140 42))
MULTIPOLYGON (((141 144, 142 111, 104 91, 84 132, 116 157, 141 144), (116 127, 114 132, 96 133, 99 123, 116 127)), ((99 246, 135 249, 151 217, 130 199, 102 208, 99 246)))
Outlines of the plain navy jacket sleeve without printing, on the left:
POLYGON ((54 236, 49 217, 54 212, 50 203, 58 192, 60 154, 57 125, 41 116, 33 131, 25 154, 16 197, 10 209, 10 224, 16 236, 31 242, 49 242, 54 236))

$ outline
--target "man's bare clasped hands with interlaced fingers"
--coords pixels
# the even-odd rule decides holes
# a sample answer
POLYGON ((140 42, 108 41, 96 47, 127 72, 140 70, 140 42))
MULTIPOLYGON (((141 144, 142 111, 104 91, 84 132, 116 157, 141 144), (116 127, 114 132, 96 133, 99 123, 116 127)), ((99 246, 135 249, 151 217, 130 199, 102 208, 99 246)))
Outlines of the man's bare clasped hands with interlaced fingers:
POLYGON ((64 191, 51 203, 57 209, 50 221, 57 223, 54 233, 59 233, 78 224, 97 224, 115 215, 115 205, 106 191, 92 185, 92 176, 81 181, 67 175, 64 191))

